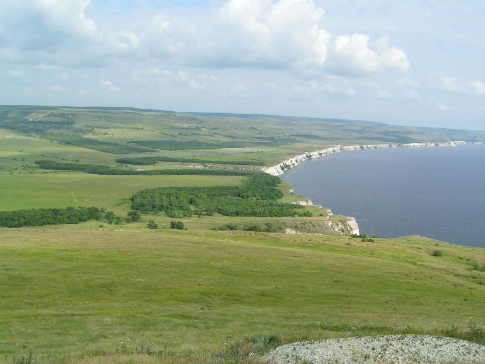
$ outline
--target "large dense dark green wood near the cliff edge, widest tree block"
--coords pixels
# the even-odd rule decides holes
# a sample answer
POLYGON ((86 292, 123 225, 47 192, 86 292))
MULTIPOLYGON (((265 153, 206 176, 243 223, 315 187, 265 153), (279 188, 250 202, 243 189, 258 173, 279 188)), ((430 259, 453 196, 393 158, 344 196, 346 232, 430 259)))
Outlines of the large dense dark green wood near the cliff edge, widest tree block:
POLYGON ((164 211, 170 217, 192 215, 292 216, 300 205, 277 202, 283 193, 281 180, 268 174, 253 174, 241 187, 159 187, 137 192, 131 208, 143 213, 164 211))

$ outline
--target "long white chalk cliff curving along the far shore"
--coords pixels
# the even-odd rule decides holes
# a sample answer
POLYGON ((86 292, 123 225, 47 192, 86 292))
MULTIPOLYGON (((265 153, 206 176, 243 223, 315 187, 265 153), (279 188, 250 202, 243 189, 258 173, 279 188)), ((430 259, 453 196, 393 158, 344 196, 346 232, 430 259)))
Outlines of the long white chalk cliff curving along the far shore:
POLYGON ((312 152, 305 152, 290 159, 284 160, 277 165, 271 167, 263 167, 260 171, 271 174, 272 176, 282 175, 287 169, 290 169, 309 159, 325 157, 327 155, 339 153, 347 150, 364 150, 364 149, 386 149, 386 148, 425 148, 425 147, 456 147, 457 145, 469 144, 465 141, 450 141, 450 142, 430 142, 430 143, 387 143, 387 144, 360 144, 350 146, 336 145, 334 147, 319 149, 312 152))

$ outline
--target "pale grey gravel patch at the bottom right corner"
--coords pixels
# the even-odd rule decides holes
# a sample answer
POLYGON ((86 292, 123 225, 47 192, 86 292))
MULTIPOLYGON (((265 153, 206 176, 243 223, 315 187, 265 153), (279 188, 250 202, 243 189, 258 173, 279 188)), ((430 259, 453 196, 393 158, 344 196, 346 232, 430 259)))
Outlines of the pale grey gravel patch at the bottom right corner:
POLYGON ((485 346, 448 337, 382 335, 304 341, 277 347, 268 364, 485 363, 485 346))

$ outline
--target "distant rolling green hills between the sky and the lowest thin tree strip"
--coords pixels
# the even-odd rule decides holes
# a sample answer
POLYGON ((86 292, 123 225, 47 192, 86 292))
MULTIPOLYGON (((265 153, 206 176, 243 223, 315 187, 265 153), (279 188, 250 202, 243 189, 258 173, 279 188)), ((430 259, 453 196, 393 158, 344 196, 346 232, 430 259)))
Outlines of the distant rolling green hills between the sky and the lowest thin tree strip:
POLYGON ((4 171, 36 159, 250 169, 335 144, 485 141, 485 132, 290 116, 0 106, 0 138, 4 171))

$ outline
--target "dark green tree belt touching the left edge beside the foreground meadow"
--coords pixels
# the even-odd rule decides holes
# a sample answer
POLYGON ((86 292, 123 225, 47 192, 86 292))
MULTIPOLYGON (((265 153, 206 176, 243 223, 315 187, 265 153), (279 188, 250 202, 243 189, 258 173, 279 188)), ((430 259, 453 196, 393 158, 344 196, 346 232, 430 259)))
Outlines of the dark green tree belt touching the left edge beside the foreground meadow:
POLYGON ((77 224, 91 219, 99 220, 101 212, 97 207, 66 207, 65 209, 31 209, 1 211, 0 226, 18 228, 55 224, 77 224))

